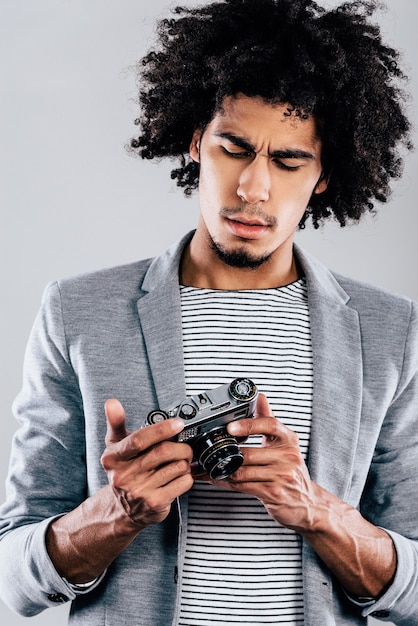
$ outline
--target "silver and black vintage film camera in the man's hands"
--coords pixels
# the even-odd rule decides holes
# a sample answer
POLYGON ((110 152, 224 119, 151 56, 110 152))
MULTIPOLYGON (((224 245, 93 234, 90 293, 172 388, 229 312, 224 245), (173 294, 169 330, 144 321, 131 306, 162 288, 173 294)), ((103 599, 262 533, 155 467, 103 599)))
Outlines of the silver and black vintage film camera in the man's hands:
POLYGON ((252 380, 235 378, 231 383, 189 396, 172 409, 151 411, 146 423, 181 417, 185 428, 175 441, 192 447, 194 459, 211 478, 227 478, 242 465, 244 457, 237 439, 227 432, 226 426, 229 422, 252 417, 257 395, 252 380))

